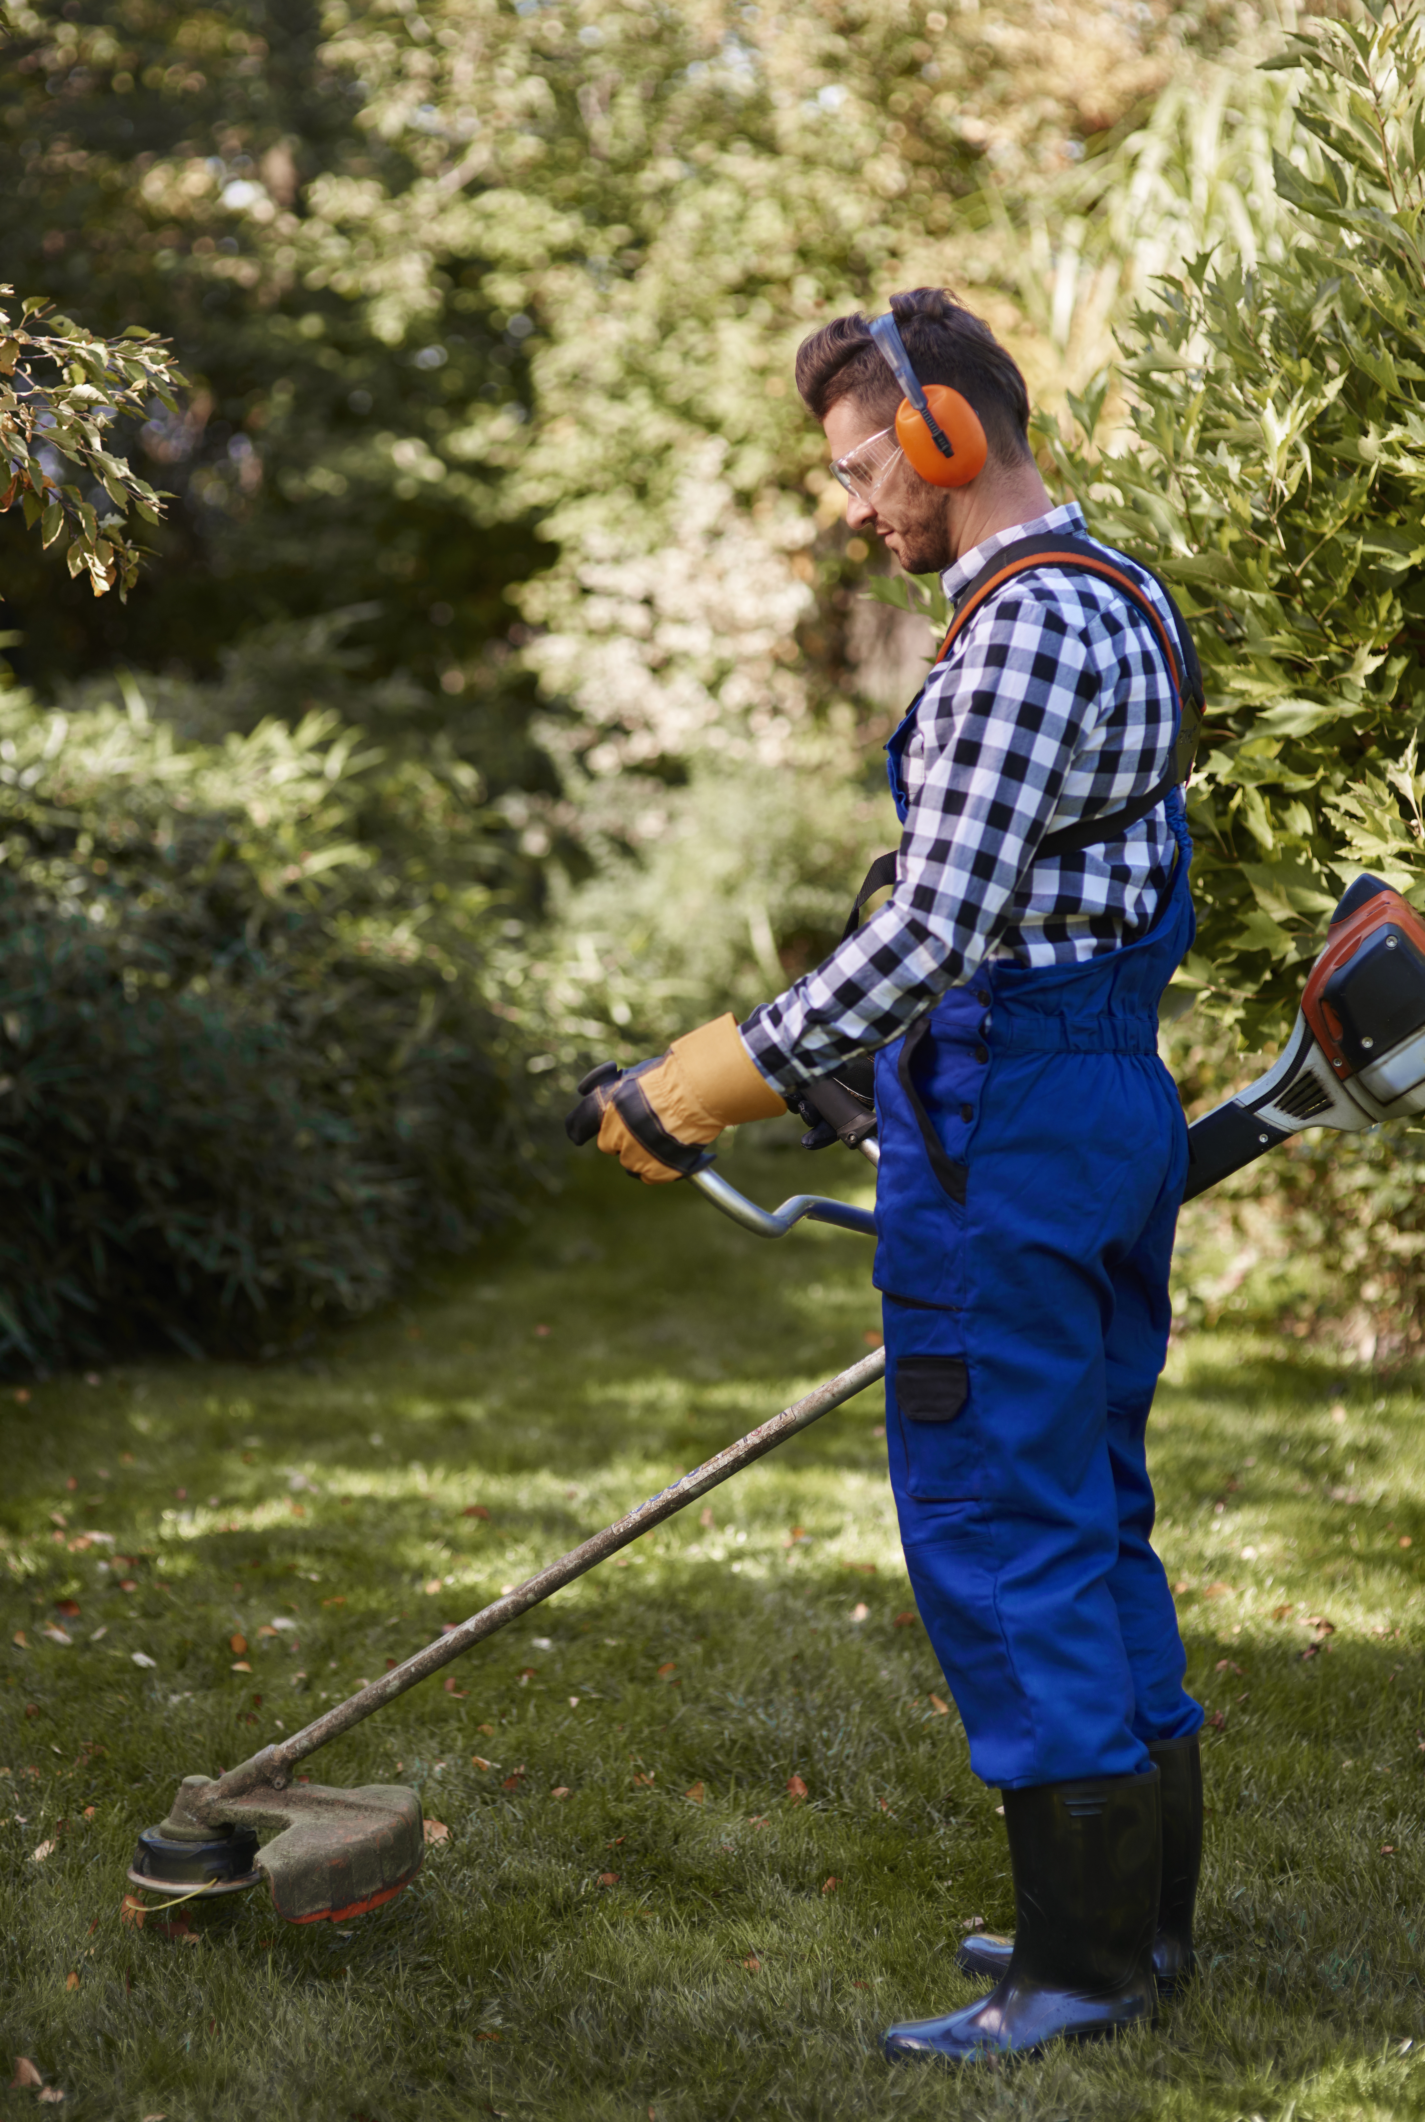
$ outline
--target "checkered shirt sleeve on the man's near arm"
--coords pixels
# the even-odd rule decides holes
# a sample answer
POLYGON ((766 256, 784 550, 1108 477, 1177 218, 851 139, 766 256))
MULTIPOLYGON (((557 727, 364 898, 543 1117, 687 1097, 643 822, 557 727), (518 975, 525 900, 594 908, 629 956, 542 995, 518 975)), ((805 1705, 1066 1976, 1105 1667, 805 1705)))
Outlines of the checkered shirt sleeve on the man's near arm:
POLYGON ((925 775, 889 902, 740 1027, 776 1091, 884 1046, 992 949, 1098 726, 1101 630, 1003 590, 931 673, 918 713, 925 775))

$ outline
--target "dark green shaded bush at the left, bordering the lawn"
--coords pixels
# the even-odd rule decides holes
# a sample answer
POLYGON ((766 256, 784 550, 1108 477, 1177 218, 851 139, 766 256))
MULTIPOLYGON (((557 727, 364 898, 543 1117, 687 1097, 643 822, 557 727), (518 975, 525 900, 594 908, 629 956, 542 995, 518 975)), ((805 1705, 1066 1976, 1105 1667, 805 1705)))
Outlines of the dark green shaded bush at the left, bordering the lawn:
POLYGON ((0 692, 0 1362, 280 1343, 509 1210, 475 796, 331 713, 0 692))

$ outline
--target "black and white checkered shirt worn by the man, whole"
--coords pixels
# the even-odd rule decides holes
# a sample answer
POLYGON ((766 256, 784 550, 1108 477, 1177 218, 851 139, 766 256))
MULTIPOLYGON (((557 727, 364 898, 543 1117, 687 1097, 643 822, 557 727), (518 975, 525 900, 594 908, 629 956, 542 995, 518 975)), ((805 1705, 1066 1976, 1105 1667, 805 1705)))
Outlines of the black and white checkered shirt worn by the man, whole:
MULTIPOLYGON (((950 603, 1022 537, 1086 535, 1077 507, 999 530, 954 567, 950 603)), ((1162 613, 1154 584, 1124 556, 1162 613)), ((1173 866, 1162 804, 1077 855, 1045 832, 1145 796, 1168 770, 1175 700, 1143 613, 1096 575, 1035 569, 975 611, 925 685, 901 775, 910 815, 895 891, 863 927, 740 1027, 778 1091, 884 1046, 990 959, 1081 963, 1141 936, 1173 866)))

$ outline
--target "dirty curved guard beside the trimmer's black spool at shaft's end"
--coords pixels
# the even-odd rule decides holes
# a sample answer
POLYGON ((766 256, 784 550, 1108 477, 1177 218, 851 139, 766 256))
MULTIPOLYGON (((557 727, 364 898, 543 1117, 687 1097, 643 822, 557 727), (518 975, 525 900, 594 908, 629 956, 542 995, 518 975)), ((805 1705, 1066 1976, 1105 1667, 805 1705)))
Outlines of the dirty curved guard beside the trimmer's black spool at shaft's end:
POLYGON ((401 1782, 339 1791, 324 1782, 259 1787, 204 1804, 208 1776, 187 1776, 184 1797, 225 1827, 278 1833, 257 1853, 271 1903, 288 1923, 341 1923, 392 1901, 420 1872, 426 1827, 420 1797, 401 1782))

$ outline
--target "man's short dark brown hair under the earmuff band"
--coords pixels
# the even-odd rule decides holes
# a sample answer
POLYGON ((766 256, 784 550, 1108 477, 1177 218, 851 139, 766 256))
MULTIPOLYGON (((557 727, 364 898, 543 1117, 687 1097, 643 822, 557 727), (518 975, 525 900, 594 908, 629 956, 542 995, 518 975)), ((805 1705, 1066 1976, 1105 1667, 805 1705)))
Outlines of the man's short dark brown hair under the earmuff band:
MULTIPOLYGON (((1028 448, 1028 390, 1016 363, 986 323, 944 286, 912 286, 891 297, 891 314, 922 384, 950 384, 980 414, 990 456, 1022 465, 1028 448)), ((895 420, 901 386, 857 310, 823 325, 797 348, 797 390, 816 420, 855 397, 884 424, 895 420)))

